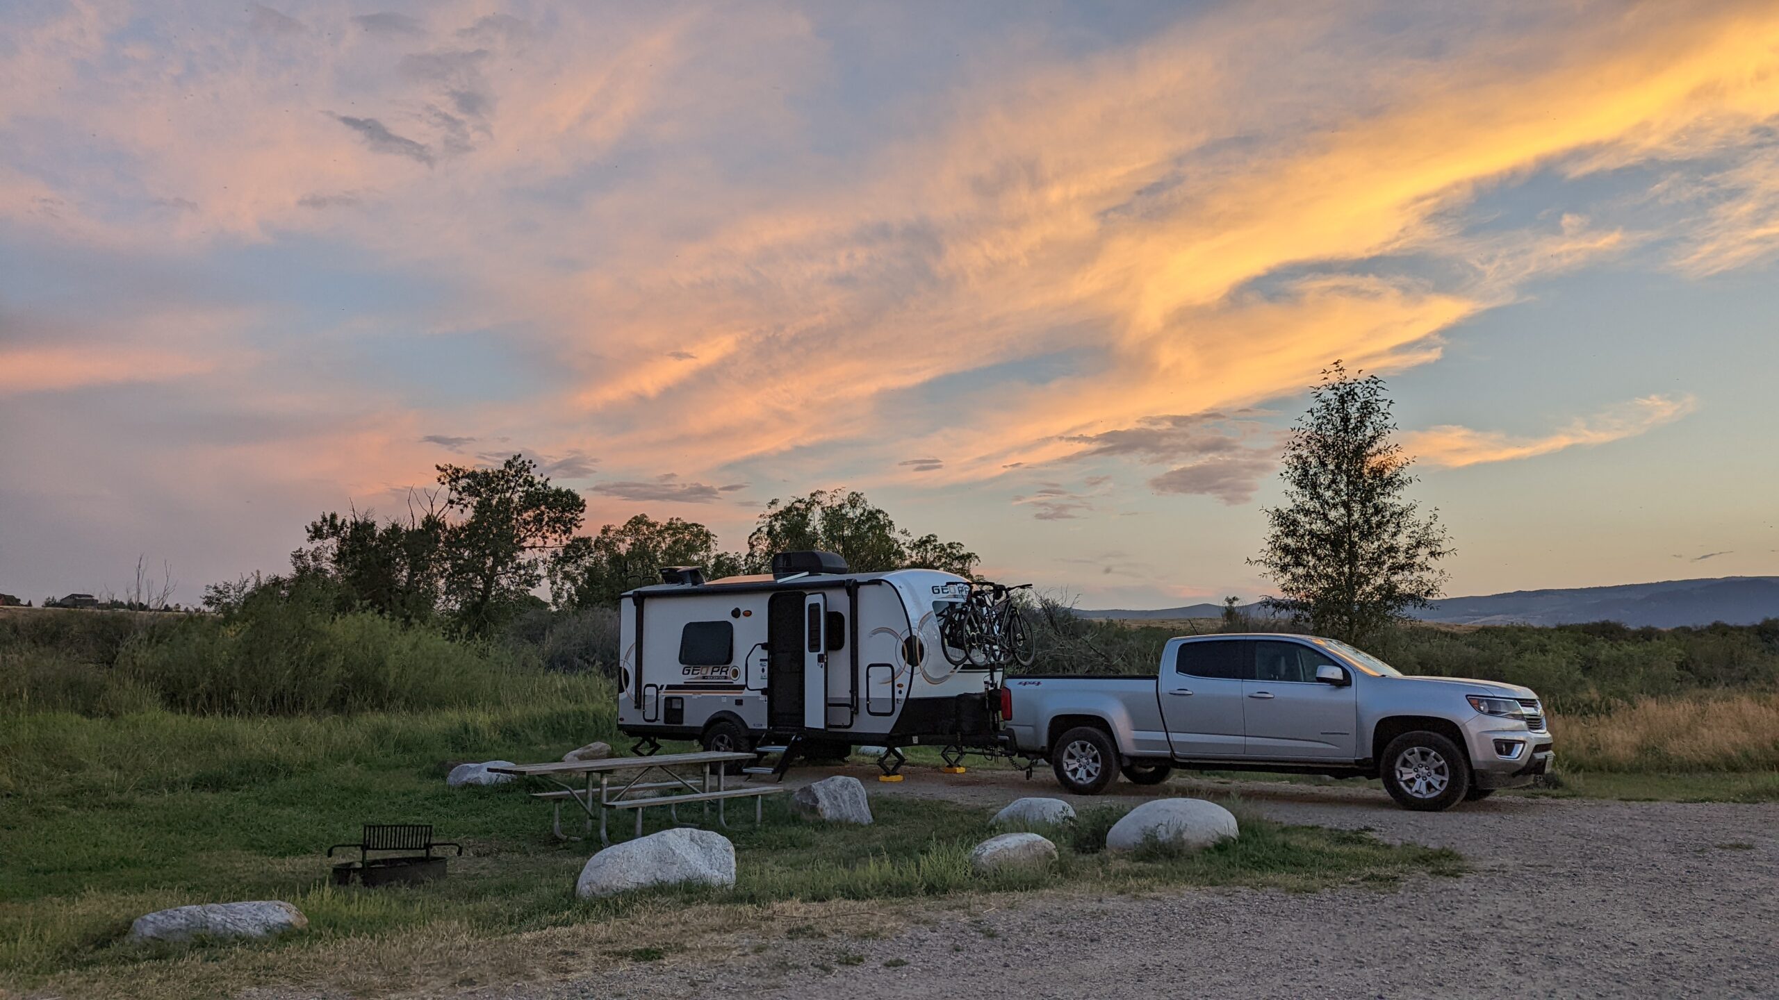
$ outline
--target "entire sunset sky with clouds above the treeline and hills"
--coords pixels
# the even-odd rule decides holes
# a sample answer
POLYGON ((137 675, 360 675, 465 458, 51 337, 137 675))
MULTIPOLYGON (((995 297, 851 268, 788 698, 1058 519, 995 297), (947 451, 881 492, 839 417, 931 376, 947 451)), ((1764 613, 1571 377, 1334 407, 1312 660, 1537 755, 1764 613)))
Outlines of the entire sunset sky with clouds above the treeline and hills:
POLYGON ((1779 4, 0 5, 0 591, 512 452, 1167 607, 1384 374, 1453 594, 1779 573, 1779 4))

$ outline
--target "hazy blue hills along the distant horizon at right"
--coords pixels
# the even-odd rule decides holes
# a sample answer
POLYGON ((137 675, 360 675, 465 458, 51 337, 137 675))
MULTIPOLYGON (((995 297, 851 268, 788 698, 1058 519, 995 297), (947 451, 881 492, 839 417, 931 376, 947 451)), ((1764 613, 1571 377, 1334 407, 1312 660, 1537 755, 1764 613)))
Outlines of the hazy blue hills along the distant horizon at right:
MULTIPOLYGON (((1258 612, 1260 605, 1242 605, 1258 612)), ((1199 603, 1156 610, 1082 610, 1083 617, 1158 619, 1219 617, 1222 605, 1199 603)), ((1619 621, 1633 628, 1653 625, 1754 625, 1779 617, 1779 577, 1720 577, 1711 580, 1663 580, 1615 587, 1512 591, 1477 598, 1446 598, 1420 612, 1423 621, 1453 625, 1573 625, 1619 621)))

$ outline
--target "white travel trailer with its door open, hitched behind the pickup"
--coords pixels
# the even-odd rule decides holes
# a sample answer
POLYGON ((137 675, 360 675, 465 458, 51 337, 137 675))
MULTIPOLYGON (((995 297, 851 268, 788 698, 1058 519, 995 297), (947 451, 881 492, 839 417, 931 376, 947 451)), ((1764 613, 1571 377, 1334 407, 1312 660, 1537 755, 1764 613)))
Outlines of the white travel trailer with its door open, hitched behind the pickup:
POLYGON ((900 746, 1002 746, 998 674, 952 665, 939 648, 938 616, 970 596, 962 577, 852 573, 829 552, 786 552, 770 575, 662 578, 619 601, 617 726, 644 747, 884 746, 893 772, 900 746))

